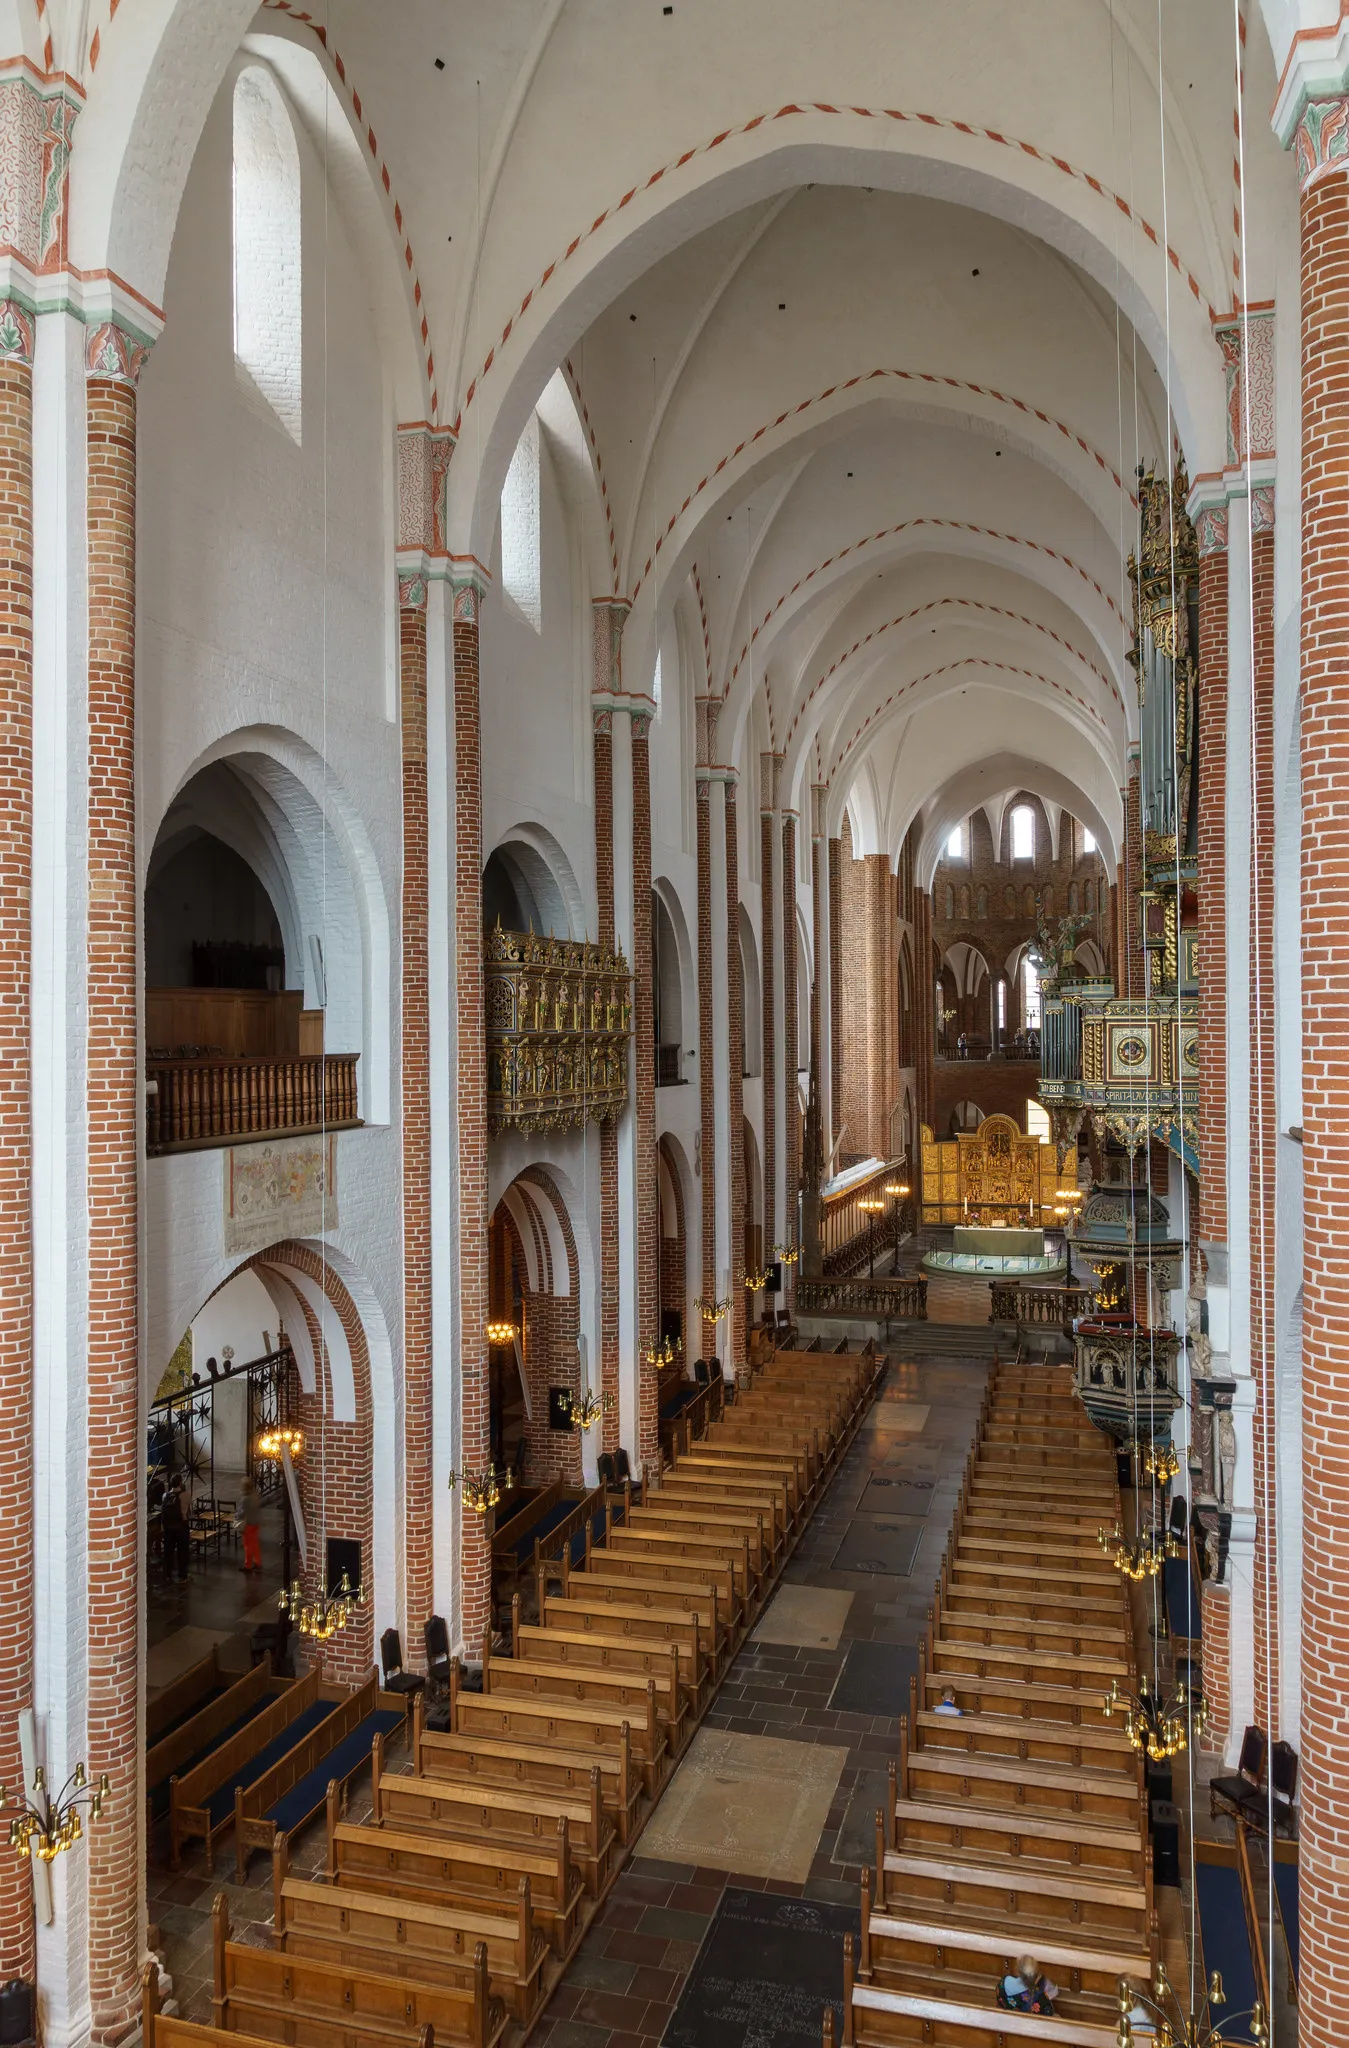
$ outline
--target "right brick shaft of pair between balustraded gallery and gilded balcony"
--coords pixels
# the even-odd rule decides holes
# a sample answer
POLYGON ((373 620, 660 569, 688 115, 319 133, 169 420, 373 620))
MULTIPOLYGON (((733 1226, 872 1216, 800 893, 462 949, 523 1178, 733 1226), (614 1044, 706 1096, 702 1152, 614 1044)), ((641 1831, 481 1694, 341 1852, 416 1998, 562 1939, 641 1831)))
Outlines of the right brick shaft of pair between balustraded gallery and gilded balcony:
MULTIPOLYGON (((491 1462, 487 1374, 487 1040, 483 1024, 483 750, 477 700, 479 575, 456 575, 454 614, 454 1001, 459 1055, 459 1464, 491 1462)), ((491 1614, 485 1518, 459 1501, 461 1634, 477 1655, 491 1614)))

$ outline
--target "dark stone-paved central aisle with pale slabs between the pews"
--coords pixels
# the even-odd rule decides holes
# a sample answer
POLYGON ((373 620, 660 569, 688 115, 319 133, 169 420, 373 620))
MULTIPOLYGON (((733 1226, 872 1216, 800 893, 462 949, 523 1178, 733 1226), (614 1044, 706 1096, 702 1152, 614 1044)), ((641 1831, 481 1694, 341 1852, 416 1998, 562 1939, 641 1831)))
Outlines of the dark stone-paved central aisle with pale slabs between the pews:
POLYGON ((534 2042, 815 2048, 987 1374, 890 1364, 534 2042))

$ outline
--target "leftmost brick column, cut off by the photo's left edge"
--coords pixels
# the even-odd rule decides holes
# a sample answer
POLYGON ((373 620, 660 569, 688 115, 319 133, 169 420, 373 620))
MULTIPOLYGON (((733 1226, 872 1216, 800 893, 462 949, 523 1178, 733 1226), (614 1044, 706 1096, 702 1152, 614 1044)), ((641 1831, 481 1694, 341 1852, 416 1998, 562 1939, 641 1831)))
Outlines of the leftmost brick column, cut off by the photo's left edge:
MULTIPOLYGON (((0 305, 0 1780, 23 1784, 33 1706, 33 1227, 29 1030, 33 936, 33 319, 0 305)), ((0 1862, 0 1980, 33 1980, 27 1864, 0 1862)))

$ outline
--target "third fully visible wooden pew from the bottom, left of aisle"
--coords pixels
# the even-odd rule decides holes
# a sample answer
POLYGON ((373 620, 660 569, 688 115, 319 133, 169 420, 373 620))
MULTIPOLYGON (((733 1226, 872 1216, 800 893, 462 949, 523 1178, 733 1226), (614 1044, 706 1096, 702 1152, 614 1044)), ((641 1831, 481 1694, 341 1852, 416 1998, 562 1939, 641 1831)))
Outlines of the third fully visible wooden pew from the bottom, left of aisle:
POLYGON ((600 1767, 590 1774, 590 1790, 540 1792, 536 1786, 481 1784, 456 1778, 416 1778, 383 1769, 383 1745, 373 1759, 375 1825, 399 1833, 465 1835, 483 1841, 520 1837, 547 1841, 567 1823, 571 1862, 592 1898, 608 1886, 618 1853, 618 1831, 604 1810, 600 1767))

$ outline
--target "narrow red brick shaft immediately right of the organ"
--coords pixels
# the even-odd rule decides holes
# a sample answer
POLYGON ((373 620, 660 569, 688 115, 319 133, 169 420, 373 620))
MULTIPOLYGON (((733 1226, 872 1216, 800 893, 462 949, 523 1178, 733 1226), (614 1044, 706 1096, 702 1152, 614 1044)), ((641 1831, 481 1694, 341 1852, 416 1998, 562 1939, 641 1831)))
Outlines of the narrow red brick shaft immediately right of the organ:
POLYGON ((1200 1229, 1226 1245, 1228 559, 1200 559, 1200 1229))

